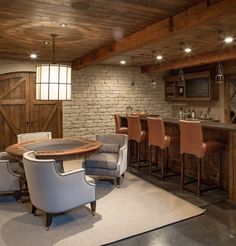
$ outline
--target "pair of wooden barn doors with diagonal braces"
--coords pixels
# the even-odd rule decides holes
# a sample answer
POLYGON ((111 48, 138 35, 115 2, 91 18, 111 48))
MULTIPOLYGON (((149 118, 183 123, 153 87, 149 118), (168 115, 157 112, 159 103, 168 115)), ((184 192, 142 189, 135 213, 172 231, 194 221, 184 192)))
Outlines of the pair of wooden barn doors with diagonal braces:
POLYGON ((35 73, 0 75, 0 149, 25 132, 51 131, 62 136, 62 103, 35 100, 35 73))

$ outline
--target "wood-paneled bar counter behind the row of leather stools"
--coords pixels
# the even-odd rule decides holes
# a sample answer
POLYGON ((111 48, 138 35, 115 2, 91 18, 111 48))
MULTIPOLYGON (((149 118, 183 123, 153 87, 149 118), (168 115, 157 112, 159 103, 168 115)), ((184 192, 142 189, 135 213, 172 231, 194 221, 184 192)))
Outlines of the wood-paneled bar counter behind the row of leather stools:
MULTIPOLYGON (((153 117, 153 116, 152 116, 153 117)), ((179 118, 163 118, 165 123, 166 134, 179 134, 179 118)), ((146 117, 141 117, 142 128, 147 129, 146 117)), ((122 124, 127 126, 126 117, 122 117, 122 124)), ((236 203, 236 125, 225 124, 201 120, 203 129, 203 138, 205 140, 217 140, 225 145, 223 153, 223 188, 229 194, 229 201, 236 203)), ((131 146, 132 147, 132 146, 131 146)), ((142 150, 144 151, 145 148, 142 150)), ((146 148, 148 151, 148 148, 146 148)), ((173 160, 170 167, 174 171, 180 171, 180 153, 179 146, 170 149, 170 155, 173 160)), ((144 156, 144 153, 143 153, 144 156)), ((146 156, 149 156, 146 154, 146 156)), ((220 179, 219 156, 212 155, 206 157, 202 167, 202 179, 209 184, 216 184, 220 179)), ((186 173, 189 176, 196 174, 196 159, 187 157, 186 173)))

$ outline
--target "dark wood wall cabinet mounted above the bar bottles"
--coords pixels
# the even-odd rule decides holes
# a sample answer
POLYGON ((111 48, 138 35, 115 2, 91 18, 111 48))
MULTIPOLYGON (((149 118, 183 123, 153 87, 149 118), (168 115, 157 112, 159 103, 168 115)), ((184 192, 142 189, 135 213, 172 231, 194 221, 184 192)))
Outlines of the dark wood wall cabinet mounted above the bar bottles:
POLYGON ((165 77, 165 100, 218 100, 219 85, 212 79, 211 72, 184 75, 185 81, 179 83, 178 76, 165 77))

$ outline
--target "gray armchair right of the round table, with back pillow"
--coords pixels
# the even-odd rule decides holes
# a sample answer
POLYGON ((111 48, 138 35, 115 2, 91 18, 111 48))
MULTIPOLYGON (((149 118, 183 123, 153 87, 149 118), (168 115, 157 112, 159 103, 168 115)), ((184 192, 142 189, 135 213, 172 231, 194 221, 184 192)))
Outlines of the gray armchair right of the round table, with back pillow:
POLYGON ((127 169, 128 136, 125 134, 97 135, 103 146, 83 161, 87 175, 116 177, 117 186, 120 177, 127 169))

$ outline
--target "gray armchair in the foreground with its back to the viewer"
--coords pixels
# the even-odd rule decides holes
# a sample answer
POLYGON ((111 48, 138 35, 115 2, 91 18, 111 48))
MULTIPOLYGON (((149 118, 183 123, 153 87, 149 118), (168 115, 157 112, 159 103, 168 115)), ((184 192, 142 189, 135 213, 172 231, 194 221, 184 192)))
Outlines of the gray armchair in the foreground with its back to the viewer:
POLYGON ((32 213, 35 214, 37 208, 46 212, 46 230, 54 214, 80 205, 91 203, 94 214, 95 183, 85 175, 83 168, 60 173, 55 160, 36 159, 33 151, 23 155, 23 163, 32 213))

